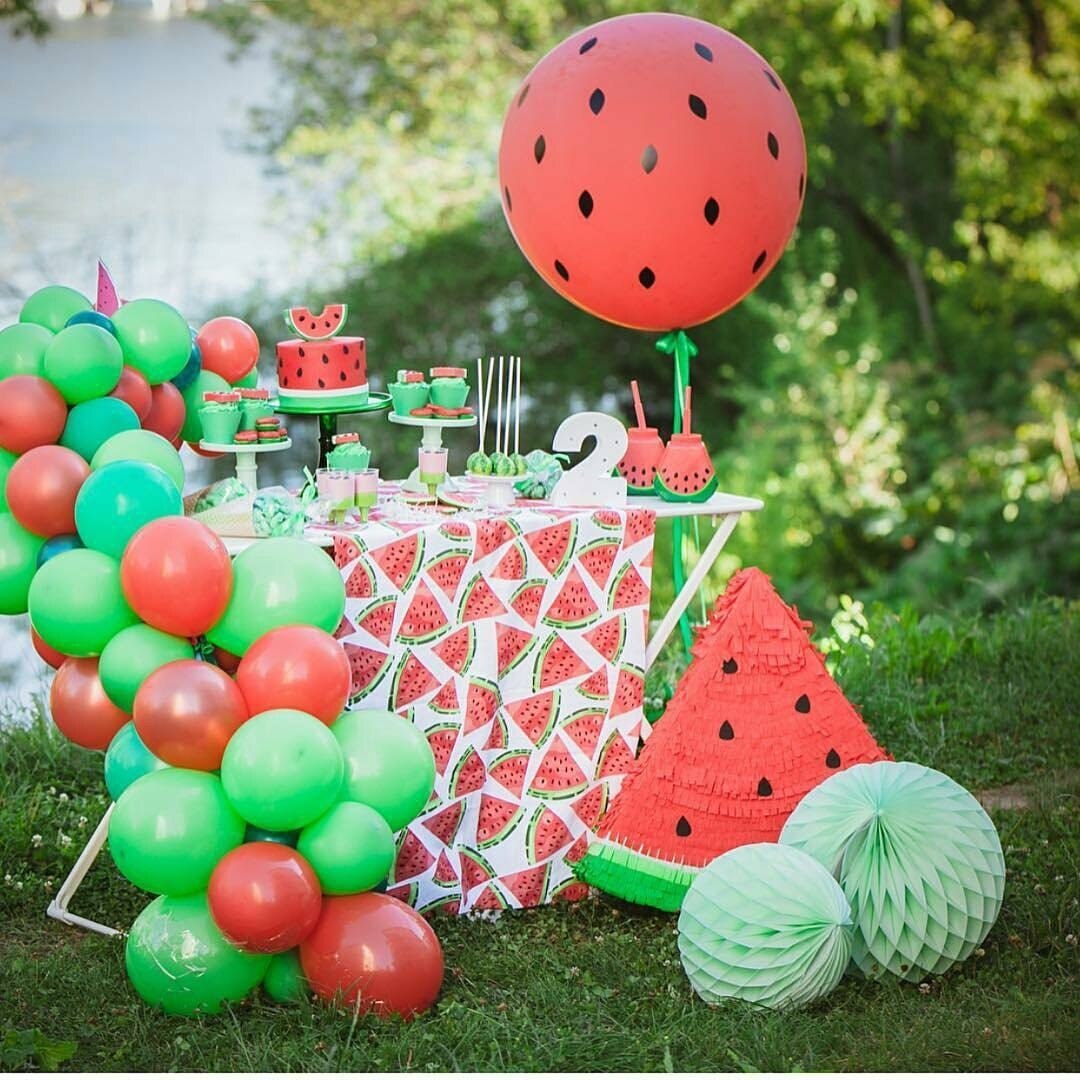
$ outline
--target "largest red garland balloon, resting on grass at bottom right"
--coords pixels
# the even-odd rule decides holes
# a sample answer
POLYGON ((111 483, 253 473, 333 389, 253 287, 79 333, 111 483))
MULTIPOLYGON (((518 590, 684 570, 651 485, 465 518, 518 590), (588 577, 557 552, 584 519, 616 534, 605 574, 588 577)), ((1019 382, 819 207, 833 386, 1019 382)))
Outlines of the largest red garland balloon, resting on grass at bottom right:
POLYGON ((300 944, 300 967, 321 998, 340 994, 360 1012, 406 1020, 429 1009, 443 985, 443 949, 422 916, 377 892, 325 896, 300 944))

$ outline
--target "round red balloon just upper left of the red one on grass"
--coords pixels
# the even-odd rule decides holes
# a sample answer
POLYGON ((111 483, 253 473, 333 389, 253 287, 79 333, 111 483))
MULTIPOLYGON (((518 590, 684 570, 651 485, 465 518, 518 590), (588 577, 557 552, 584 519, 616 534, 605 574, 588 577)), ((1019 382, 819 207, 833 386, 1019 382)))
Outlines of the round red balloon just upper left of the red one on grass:
POLYGON ((217 929, 248 953, 284 953, 314 929, 323 907, 319 878, 298 851, 256 840, 214 867, 206 890, 217 929))

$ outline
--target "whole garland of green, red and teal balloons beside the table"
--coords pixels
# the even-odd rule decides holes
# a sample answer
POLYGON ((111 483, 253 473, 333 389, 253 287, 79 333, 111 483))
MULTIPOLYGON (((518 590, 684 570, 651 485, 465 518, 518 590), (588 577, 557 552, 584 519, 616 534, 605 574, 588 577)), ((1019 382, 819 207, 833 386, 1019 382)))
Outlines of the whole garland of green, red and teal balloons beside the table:
POLYGON ((50 706, 105 752, 118 869, 157 899, 129 934, 137 993, 219 1012, 260 984, 409 1016, 443 978, 423 919, 373 893, 427 805, 431 750, 346 713, 345 586, 299 540, 233 562, 184 516, 206 389, 251 382, 246 323, 48 286, 0 330, 0 615, 28 612, 50 706), (175 380, 175 381, 173 381, 175 380))

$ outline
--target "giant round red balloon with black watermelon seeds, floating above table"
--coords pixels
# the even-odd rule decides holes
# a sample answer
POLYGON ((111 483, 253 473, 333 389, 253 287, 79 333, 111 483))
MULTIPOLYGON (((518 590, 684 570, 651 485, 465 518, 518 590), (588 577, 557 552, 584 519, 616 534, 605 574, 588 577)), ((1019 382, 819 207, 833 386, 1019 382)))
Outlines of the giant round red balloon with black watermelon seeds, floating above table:
POLYGON ((549 285, 608 322, 707 322, 772 269, 806 187, 798 113, 734 35, 685 15, 597 23, 507 112, 502 208, 549 285))

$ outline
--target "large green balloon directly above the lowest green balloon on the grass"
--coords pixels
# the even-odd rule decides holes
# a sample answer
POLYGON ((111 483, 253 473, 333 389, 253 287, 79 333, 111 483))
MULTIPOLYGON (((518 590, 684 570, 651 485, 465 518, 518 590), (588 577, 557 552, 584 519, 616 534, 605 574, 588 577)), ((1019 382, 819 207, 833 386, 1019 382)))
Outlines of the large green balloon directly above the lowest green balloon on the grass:
POLYGON ((117 799, 109 821, 120 873, 139 889, 171 896, 205 889, 221 856, 243 839, 244 823, 221 781, 194 769, 140 777, 117 799))

